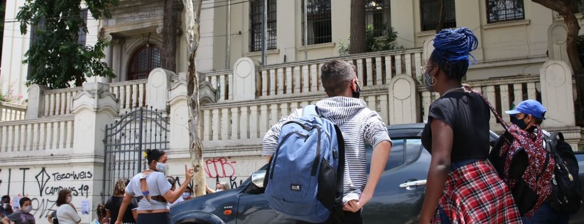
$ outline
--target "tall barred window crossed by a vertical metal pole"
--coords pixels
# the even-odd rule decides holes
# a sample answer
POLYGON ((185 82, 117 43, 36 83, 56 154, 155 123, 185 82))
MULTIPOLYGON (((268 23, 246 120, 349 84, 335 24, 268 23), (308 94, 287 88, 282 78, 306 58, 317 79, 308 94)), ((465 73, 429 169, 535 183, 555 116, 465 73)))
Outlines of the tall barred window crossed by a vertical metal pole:
MULTIPOLYGON (((250 1, 249 51, 262 50, 263 1, 250 1)), ((276 0, 267 0, 266 48, 276 49, 276 0)))

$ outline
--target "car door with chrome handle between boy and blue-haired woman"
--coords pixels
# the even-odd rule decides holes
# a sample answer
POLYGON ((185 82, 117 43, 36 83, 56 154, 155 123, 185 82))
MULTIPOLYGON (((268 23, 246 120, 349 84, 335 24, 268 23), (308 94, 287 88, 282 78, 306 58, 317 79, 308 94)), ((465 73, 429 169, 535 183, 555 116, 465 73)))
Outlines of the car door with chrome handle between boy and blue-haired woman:
MULTIPOLYGON (((390 134, 391 135, 391 134, 390 134)), ((401 188, 406 182, 426 180, 430 154, 418 136, 392 139, 390 158, 371 201, 363 208, 364 223, 416 223, 425 185, 401 188)), ((369 171, 373 149, 367 147, 369 171)))

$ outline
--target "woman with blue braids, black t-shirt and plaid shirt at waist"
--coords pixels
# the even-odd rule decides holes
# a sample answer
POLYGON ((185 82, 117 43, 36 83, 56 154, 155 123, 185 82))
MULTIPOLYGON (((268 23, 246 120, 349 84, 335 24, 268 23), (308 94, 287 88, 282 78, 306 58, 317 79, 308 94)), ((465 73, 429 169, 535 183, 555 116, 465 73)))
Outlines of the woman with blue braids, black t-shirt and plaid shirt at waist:
MULTIPOLYGON (((432 154, 420 223, 520 223, 509 189, 487 160, 489 108, 462 85, 477 49, 468 28, 442 30, 424 71, 432 103, 422 144, 432 154)), ((476 62, 476 61, 475 61, 476 62)))

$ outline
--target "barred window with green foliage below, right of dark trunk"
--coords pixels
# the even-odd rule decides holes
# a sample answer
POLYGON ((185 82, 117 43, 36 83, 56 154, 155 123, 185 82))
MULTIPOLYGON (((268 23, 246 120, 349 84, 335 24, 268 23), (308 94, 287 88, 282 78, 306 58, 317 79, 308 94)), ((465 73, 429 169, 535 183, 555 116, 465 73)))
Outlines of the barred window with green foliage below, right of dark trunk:
POLYGON ((365 24, 373 26, 373 36, 384 36, 391 26, 390 0, 369 1, 365 5, 365 24))

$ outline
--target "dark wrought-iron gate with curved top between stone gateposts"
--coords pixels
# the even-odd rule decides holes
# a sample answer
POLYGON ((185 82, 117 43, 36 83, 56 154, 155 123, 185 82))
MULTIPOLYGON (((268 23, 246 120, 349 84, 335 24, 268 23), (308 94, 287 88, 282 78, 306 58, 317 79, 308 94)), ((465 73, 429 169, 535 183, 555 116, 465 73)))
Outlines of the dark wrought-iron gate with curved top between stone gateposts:
POLYGON ((169 146, 168 119, 152 108, 140 108, 106 125, 103 163, 102 201, 112 195, 117 180, 130 180, 147 167, 142 152, 166 150, 169 146))

